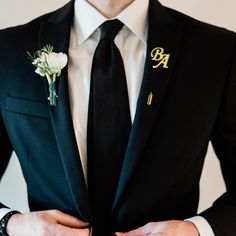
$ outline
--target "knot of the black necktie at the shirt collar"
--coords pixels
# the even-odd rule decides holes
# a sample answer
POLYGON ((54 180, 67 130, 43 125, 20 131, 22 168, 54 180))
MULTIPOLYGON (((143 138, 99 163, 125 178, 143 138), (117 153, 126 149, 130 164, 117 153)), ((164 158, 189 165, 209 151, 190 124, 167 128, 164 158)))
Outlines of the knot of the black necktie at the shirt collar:
POLYGON ((105 21, 101 26, 101 37, 102 39, 114 40, 118 32, 122 29, 123 23, 119 20, 108 20, 105 21))

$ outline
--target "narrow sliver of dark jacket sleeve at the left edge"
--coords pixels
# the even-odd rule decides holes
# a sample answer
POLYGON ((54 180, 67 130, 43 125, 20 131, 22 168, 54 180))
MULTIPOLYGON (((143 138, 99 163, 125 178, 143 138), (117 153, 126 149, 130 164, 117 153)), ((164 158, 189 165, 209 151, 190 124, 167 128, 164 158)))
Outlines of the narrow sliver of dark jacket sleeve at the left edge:
MULTIPOLYGON (((6 170, 8 162, 10 160, 13 148, 8 138, 1 113, 0 113, 0 180, 6 170)), ((6 207, 0 203, 0 208, 6 207)))

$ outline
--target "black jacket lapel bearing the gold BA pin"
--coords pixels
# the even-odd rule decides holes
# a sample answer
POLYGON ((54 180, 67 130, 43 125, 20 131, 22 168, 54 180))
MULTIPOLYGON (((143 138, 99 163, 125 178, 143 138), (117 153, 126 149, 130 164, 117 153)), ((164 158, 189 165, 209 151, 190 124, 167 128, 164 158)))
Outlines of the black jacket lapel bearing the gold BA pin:
MULTIPOLYGON (((180 46, 181 34, 182 25, 176 25, 168 15, 167 10, 158 1, 150 0, 149 33, 143 82, 113 209, 124 192, 148 141, 168 83, 170 82, 180 46), (154 48, 162 49, 153 51, 154 48), (153 68, 161 60, 151 60, 151 52, 153 51, 153 54, 155 52, 161 53, 161 50, 164 50, 162 55, 167 54, 167 57, 163 56, 163 63, 159 67, 153 68)), ((156 58, 160 59, 161 57, 158 56, 156 58)))

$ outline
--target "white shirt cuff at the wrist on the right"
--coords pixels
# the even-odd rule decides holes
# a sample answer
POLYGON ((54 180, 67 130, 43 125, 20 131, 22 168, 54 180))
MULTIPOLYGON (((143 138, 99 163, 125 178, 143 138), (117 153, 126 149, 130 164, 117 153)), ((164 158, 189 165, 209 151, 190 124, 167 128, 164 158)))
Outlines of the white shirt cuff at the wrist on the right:
POLYGON ((185 221, 192 222, 198 229, 200 236, 215 236, 210 224, 202 216, 194 216, 185 221))

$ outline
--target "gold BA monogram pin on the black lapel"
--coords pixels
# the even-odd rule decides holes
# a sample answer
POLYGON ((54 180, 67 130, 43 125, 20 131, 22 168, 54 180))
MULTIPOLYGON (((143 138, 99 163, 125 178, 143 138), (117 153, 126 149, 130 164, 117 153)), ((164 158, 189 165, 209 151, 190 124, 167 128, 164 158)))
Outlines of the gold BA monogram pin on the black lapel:
POLYGON ((151 51, 151 58, 152 61, 156 62, 156 65, 153 65, 152 68, 156 69, 158 67, 163 67, 165 69, 168 69, 168 62, 170 59, 170 54, 164 53, 165 49, 161 47, 153 48, 151 51))

